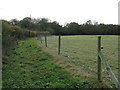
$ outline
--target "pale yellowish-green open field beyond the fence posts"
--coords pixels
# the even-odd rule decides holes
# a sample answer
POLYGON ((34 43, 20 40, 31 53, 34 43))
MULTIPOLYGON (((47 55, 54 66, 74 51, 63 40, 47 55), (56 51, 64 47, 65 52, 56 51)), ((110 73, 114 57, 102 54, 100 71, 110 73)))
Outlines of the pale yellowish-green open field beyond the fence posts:
MULTIPOLYGON (((67 62, 81 68, 83 70, 81 73, 87 72, 90 75, 87 78, 94 80, 97 79, 97 37, 97 35, 61 37, 61 56, 66 58, 67 62)), ((101 35, 101 37, 102 46, 104 47, 102 53, 118 77, 118 36, 101 35)), ((57 53, 58 36, 50 36, 47 39, 48 48, 57 53)), ((103 63, 102 80, 106 81, 110 86, 113 85, 103 63)))

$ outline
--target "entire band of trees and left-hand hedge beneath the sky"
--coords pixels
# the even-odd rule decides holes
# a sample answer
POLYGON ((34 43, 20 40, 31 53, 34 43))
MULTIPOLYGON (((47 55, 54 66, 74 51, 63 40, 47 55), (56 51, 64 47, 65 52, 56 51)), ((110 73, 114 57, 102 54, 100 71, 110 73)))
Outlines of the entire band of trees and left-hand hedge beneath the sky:
POLYGON ((120 25, 98 24, 91 20, 84 24, 71 22, 65 26, 56 21, 51 22, 46 18, 25 17, 20 21, 17 19, 2 20, 2 51, 4 54, 19 39, 36 37, 40 33, 45 34, 45 32, 53 35, 118 35, 118 28, 120 25))

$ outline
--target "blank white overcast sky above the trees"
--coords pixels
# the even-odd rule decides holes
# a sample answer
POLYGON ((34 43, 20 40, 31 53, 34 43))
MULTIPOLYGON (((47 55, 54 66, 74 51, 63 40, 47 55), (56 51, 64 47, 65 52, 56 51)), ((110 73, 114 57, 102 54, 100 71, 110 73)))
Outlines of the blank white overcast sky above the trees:
POLYGON ((65 23, 85 23, 87 20, 118 24, 120 0, 1 0, 0 18, 48 18, 65 23))

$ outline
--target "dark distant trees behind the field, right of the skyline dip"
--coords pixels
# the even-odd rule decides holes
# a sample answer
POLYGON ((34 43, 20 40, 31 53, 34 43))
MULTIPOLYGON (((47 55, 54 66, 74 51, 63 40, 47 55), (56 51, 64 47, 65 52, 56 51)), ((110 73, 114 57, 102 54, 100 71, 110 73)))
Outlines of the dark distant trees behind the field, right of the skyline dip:
POLYGON ((118 25, 70 23, 62 30, 64 35, 118 35, 118 25))

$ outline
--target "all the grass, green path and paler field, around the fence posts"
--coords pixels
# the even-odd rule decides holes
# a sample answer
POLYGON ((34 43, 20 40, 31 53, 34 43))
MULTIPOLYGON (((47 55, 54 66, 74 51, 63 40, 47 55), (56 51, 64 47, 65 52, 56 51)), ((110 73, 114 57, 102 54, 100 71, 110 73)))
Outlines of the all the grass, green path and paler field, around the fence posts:
MULTIPOLYGON (((44 39, 44 38, 43 38, 44 39)), ((102 63, 102 83, 97 81, 97 36, 58 36, 44 41, 20 40, 3 58, 3 88, 114 87, 102 63), (48 51, 48 52, 47 52, 48 51)), ((102 36, 102 50, 118 76, 118 36, 102 36)))

